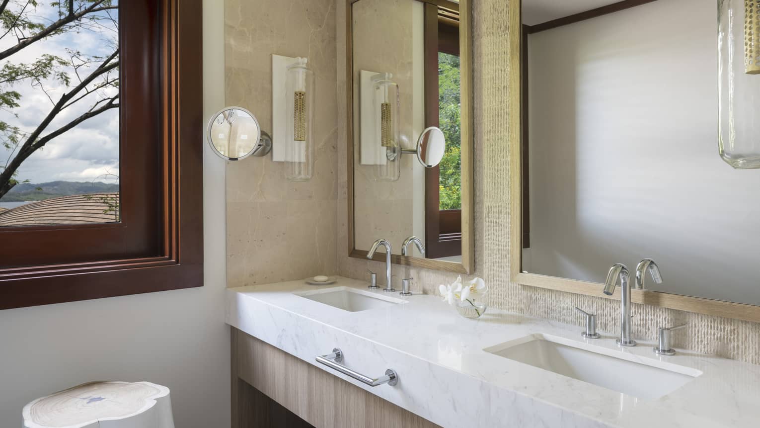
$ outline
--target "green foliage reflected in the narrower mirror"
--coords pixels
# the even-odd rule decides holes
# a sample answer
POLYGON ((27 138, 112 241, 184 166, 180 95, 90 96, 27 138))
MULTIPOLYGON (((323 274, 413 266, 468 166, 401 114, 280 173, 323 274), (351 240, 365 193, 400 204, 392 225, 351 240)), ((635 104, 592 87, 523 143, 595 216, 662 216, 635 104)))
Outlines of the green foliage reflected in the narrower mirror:
POLYGON ((461 85, 459 57, 439 52, 438 94, 439 128, 446 138, 446 151, 440 165, 439 208, 462 208, 461 174, 461 85))

